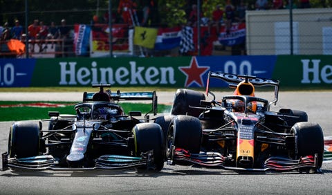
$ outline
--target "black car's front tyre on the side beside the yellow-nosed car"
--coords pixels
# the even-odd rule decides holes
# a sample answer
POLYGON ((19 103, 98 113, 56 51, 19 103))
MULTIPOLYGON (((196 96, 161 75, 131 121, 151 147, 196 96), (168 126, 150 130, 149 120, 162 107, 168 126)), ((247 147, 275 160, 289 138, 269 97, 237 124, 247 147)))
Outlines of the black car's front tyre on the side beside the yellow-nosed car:
POLYGON ((154 151, 154 168, 160 171, 164 167, 163 156, 163 132, 160 125, 155 123, 140 123, 133 127, 135 142, 135 155, 140 157, 142 153, 154 151))

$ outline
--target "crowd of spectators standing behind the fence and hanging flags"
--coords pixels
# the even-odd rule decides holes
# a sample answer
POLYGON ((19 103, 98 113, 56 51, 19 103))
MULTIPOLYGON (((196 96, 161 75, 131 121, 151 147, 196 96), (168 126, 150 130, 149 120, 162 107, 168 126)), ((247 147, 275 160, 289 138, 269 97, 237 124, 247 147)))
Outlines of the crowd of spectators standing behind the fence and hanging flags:
MULTIPOLYGON (((253 4, 248 4, 246 0, 228 0, 223 7, 221 4, 216 5, 212 12, 211 18, 204 17, 204 13, 200 12, 201 15, 197 16, 198 6, 195 4, 196 1, 187 1, 188 10, 187 12, 187 26, 197 26, 198 19, 202 19, 203 25, 209 26, 210 30, 213 27, 216 28, 216 32, 220 32, 221 26, 225 26, 225 31, 228 33, 230 27, 234 22, 241 23, 245 22, 246 10, 278 10, 289 8, 288 1, 285 0, 253 0, 253 4)), ((112 22, 128 24, 134 26, 137 22, 140 26, 148 26, 151 24, 152 18, 154 18, 154 12, 156 12, 156 0, 142 0, 140 1, 141 15, 138 19, 137 9, 138 5, 133 0, 120 0, 116 12, 112 12, 112 22)), ((200 6, 201 10, 202 7, 200 6)), ((298 0, 297 3, 293 4, 293 8, 311 8, 310 0, 298 0)), ((158 11, 157 11, 158 12, 158 11)), ((109 12, 105 12, 102 19, 102 23, 108 24, 109 12)), ((93 19, 95 21, 95 19, 93 19)), ((35 19, 33 24, 28 26, 28 32, 24 34, 25 29, 21 26, 18 19, 14 21, 15 26, 8 25, 8 22, 0 26, 0 43, 9 39, 19 39, 25 41, 29 39, 31 46, 30 51, 43 52, 51 43, 51 48, 55 45, 55 39, 63 39, 65 43, 68 43, 70 39, 70 31, 66 25, 66 20, 62 19, 60 26, 55 24, 55 21, 51 21, 49 26, 44 24, 44 21, 35 19), (51 41, 47 41, 50 39, 51 41), (47 44, 48 43, 48 44, 47 44), (35 50, 35 45, 38 45, 39 50, 35 50)), ((62 48, 66 53, 68 49, 66 46, 62 48)))

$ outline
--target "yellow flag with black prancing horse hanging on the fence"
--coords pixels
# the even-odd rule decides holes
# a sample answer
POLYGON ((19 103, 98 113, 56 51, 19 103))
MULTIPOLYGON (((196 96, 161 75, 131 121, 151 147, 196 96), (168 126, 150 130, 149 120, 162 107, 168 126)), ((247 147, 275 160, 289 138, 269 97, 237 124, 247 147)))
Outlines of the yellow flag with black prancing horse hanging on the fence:
POLYGON ((145 48, 154 48, 158 29, 136 26, 133 35, 133 44, 145 48))

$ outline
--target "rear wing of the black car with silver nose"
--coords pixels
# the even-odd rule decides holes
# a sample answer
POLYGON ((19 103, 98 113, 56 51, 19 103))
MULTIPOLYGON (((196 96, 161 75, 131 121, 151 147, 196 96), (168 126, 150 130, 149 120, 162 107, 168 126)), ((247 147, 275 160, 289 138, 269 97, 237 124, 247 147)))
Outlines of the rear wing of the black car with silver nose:
MULTIPOLYGON (((139 101, 139 100, 151 100, 152 102, 152 109, 148 113, 153 112, 154 115, 157 114, 157 107, 158 107, 158 97, 156 94, 156 91, 147 92, 147 91, 141 91, 141 92, 120 92, 120 90, 116 92, 111 92, 110 90, 105 90, 104 87, 111 86, 110 84, 93 84, 93 87, 99 87, 100 91, 103 91, 104 93, 108 93, 109 97, 111 98, 111 101, 139 101)), ((93 95, 95 93, 83 93, 83 102, 89 102, 93 101, 93 95)))

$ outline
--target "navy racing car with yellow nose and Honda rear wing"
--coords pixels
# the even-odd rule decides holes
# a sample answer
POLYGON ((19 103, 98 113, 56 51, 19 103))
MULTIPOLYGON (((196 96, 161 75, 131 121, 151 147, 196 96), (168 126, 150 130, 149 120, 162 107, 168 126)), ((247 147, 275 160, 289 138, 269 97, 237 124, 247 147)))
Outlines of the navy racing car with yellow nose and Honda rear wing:
POLYGON ((204 93, 178 89, 172 115, 164 117, 165 159, 169 165, 201 165, 243 171, 320 172, 324 136, 304 111, 280 109, 279 81, 210 72, 204 93), (216 100, 212 79, 235 91, 216 100), (255 97, 255 86, 274 88, 273 100, 255 97), (207 100, 208 95, 212 100, 207 100))

